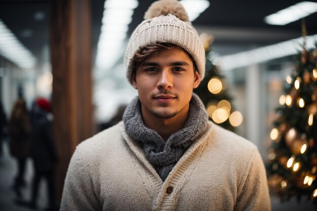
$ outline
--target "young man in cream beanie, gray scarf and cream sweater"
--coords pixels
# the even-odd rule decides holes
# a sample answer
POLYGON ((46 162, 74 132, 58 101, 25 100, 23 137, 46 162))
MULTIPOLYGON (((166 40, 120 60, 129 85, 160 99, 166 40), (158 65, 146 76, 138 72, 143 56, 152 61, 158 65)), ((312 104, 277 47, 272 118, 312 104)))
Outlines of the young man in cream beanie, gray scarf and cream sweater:
POLYGON ((138 97, 77 146, 61 210, 270 210, 256 146, 209 121, 192 92, 205 52, 183 7, 158 1, 145 19, 125 55, 138 97))

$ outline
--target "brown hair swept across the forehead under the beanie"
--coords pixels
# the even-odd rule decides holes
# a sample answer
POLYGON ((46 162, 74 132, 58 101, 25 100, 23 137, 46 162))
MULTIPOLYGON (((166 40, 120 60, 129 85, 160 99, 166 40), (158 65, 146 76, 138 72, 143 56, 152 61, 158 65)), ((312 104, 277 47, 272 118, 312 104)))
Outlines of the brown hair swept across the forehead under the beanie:
POLYGON ((137 68, 148 58, 155 56, 158 53, 161 53, 163 51, 166 51, 168 49, 172 49, 172 48, 179 48, 182 49, 187 56, 189 57, 189 59, 192 61, 193 63, 193 68, 194 68, 194 73, 197 70, 196 64, 194 59, 192 58, 192 56, 183 48, 176 46, 174 44, 171 43, 161 43, 161 42, 156 42, 156 43, 152 43, 150 45, 144 46, 142 48, 139 48, 136 53, 134 54, 134 56, 132 57, 132 59, 130 60, 130 64, 128 69, 132 70, 132 75, 134 75, 136 73, 137 68))

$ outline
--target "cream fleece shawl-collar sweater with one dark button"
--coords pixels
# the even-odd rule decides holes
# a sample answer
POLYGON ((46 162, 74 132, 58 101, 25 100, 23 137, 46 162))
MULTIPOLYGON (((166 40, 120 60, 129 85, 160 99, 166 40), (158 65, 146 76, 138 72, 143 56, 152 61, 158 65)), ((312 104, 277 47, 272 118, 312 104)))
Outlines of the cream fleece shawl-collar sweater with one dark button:
POLYGON ((163 183, 120 122, 77 146, 60 210, 270 210, 254 144, 209 127, 163 183))

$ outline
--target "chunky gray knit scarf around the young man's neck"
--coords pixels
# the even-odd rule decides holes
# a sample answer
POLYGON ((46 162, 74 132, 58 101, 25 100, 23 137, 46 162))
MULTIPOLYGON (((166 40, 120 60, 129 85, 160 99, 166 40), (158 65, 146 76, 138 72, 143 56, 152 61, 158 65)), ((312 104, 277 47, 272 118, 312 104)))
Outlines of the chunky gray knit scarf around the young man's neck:
POLYGON ((147 159, 153 164, 161 179, 165 181, 187 147, 207 128, 208 114, 200 98, 193 93, 184 128, 172 134, 166 143, 158 133, 144 125, 138 97, 128 105, 123 115, 123 121, 127 134, 141 143, 147 159))

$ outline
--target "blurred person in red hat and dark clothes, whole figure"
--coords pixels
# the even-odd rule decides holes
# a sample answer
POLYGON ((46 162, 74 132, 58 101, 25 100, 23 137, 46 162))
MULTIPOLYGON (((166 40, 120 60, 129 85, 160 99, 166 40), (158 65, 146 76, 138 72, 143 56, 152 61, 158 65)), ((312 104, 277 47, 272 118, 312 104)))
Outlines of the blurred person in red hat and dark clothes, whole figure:
POLYGON ((48 184, 49 204, 47 210, 56 210, 55 204, 55 165, 57 153, 53 139, 51 104, 45 98, 36 99, 30 112, 32 125, 30 140, 30 156, 34 164, 32 196, 29 205, 36 208, 39 183, 42 178, 48 184))

